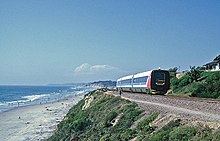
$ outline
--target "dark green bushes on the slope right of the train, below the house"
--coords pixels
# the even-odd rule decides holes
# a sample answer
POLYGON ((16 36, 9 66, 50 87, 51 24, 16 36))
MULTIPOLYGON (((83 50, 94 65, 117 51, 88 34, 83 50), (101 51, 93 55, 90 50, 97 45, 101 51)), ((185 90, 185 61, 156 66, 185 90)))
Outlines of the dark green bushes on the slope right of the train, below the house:
POLYGON ((220 98, 220 72, 202 72, 195 67, 180 79, 171 79, 174 93, 203 98, 220 98))

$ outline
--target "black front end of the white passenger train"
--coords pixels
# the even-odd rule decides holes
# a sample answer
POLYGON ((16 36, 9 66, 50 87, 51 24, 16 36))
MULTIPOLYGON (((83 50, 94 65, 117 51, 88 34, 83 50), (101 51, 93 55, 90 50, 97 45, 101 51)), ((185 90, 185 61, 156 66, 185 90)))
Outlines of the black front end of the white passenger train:
POLYGON ((151 91, 165 94, 170 88, 170 75, 166 70, 153 70, 151 73, 151 91))

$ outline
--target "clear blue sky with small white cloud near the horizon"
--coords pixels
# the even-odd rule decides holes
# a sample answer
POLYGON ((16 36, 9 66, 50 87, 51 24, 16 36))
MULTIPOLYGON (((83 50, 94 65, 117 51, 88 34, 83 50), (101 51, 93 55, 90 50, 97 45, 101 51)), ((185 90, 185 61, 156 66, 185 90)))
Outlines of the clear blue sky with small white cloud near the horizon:
POLYGON ((0 0, 0 85, 117 78, 220 54, 219 0, 0 0))

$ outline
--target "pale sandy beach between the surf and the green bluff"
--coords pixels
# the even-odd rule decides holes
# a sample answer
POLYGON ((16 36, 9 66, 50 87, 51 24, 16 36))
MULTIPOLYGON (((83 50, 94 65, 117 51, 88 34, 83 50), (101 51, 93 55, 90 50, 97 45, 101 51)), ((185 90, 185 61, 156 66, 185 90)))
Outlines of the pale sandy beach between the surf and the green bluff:
POLYGON ((53 134, 69 109, 83 96, 59 102, 19 107, 0 113, 1 141, 45 140, 53 134))

